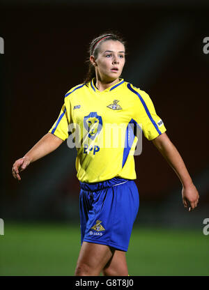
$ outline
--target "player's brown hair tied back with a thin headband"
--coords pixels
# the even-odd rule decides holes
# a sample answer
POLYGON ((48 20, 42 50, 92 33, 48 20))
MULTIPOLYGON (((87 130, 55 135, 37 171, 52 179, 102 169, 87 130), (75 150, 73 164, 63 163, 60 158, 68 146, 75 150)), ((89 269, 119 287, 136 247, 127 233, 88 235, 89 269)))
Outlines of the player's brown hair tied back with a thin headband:
MULTIPOLYGON (((93 38, 93 40, 91 40, 88 49, 89 56, 93 55, 95 59, 97 59, 100 46, 102 45, 102 43, 104 43, 104 41, 107 40, 115 40, 115 41, 118 40, 125 46, 125 41, 123 40, 122 36, 119 33, 113 32, 102 33, 100 36, 93 38)), ((89 60, 89 57, 86 62, 88 63, 88 73, 86 74, 84 83, 91 82, 91 79, 95 77, 95 68, 91 63, 91 61, 89 60)))

